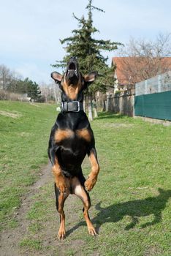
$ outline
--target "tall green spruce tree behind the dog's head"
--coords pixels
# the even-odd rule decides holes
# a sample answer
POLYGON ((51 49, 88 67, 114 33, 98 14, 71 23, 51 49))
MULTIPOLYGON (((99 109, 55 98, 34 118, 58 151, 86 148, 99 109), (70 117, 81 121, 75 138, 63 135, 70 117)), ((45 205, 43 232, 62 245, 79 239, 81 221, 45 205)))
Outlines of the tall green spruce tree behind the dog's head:
MULTIPOLYGON (((98 77, 96 81, 88 88, 86 95, 89 99, 89 111, 91 110, 92 99, 96 99, 96 91, 106 91, 107 86, 113 85, 113 69, 115 67, 107 66, 108 57, 102 55, 102 50, 112 51, 121 45, 119 42, 111 42, 104 39, 94 39, 93 35, 99 32, 93 26, 92 11, 97 10, 99 12, 104 12, 104 10, 94 7, 92 5, 92 0, 88 0, 88 5, 86 7, 88 10, 88 18, 84 16, 82 18, 77 18, 74 14, 74 18, 77 20, 78 29, 72 31, 72 37, 67 37, 65 39, 60 39, 61 44, 65 44, 66 56, 62 61, 56 61, 53 67, 66 66, 66 62, 71 56, 75 56, 78 60, 80 72, 85 75, 86 73, 96 70, 98 72, 98 77)), ((89 113, 89 118, 91 119, 92 114, 89 113)))

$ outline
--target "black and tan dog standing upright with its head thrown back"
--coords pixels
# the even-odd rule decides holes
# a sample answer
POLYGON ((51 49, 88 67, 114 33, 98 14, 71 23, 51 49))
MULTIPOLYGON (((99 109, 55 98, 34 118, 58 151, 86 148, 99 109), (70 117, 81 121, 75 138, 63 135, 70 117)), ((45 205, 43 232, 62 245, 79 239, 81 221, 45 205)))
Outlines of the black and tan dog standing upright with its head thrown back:
POLYGON ((88 216, 91 206, 88 192, 96 184, 99 164, 96 157, 94 134, 86 113, 83 111, 83 90, 95 79, 96 72, 83 76, 75 57, 69 59, 64 75, 53 72, 51 77, 61 89, 61 113, 58 114, 49 140, 48 155, 55 176, 56 208, 60 214, 58 239, 63 239, 65 231, 64 201, 69 194, 75 194, 83 201, 83 215, 88 232, 96 236, 96 231, 88 216), (88 154, 91 173, 88 179, 82 173, 82 162, 88 154))

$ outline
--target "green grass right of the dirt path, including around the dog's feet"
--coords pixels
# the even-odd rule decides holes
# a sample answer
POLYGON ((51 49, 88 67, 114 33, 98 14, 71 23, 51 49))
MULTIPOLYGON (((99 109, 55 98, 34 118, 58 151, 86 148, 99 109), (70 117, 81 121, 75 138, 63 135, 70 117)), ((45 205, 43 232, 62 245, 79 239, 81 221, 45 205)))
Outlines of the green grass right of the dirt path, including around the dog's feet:
POLYGON ((171 127, 105 113, 91 127, 101 171, 91 192, 90 215, 99 236, 88 235, 80 201, 71 206, 66 200, 68 236, 46 246, 58 232, 53 184, 47 184, 27 214, 30 227, 39 222, 41 229, 26 237, 42 241, 47 255, 61 255, 62 249, 64 255, 169 256, 171 127))

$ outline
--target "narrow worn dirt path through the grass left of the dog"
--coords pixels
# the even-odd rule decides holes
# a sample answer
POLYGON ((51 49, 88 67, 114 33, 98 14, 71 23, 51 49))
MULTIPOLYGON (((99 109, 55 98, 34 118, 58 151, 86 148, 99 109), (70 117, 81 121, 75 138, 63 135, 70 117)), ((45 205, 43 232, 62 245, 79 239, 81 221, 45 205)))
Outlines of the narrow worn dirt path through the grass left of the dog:
POLYGON ((1 233, 0 236, 0 255, 1 256, 19 256, 20 255, 20 246, 18 242, 23 238, 28 227, 28 222, 25 218, 26 213, 31 207, 31 197, 35 195, 39 188, 53 180, 51 174, 51 165, 50 163, 42 168, 41 176, 39 180, 30 187, 29 192, 25 197, 23 197, 22 203, 18 212, 16 212, 16 220, 18 221, 18 227, 14 229, 5 230, 1 233))

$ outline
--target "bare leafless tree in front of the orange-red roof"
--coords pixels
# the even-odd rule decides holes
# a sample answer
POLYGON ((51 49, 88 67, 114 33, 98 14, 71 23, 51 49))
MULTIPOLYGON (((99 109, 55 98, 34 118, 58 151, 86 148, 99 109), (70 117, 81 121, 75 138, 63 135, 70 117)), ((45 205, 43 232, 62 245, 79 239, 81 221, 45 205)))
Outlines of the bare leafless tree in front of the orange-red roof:
POLYGON ((118 68, 129 85, 167 72, 171 69, 171 33, 159 34, 155 41, 132 38, 119 56, 118 68))

